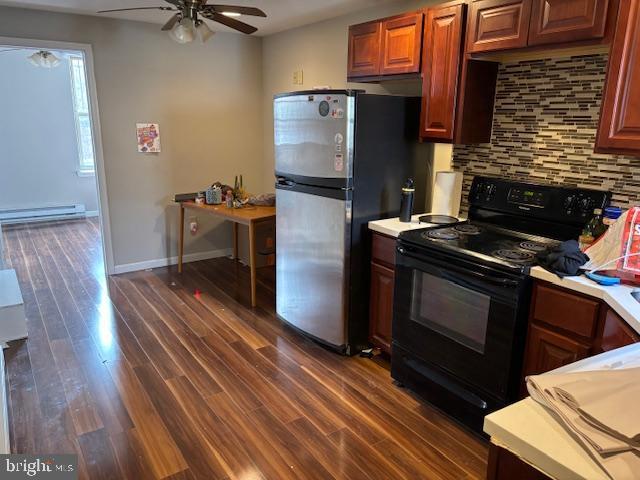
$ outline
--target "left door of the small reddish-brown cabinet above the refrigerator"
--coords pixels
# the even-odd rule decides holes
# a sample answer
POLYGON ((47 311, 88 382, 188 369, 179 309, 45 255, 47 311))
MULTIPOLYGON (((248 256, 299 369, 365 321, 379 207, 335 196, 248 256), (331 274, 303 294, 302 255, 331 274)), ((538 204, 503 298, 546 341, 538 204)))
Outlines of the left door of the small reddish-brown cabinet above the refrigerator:
POLYGON ((380 22, 349 27, 348 77, 380 74, 380 22))

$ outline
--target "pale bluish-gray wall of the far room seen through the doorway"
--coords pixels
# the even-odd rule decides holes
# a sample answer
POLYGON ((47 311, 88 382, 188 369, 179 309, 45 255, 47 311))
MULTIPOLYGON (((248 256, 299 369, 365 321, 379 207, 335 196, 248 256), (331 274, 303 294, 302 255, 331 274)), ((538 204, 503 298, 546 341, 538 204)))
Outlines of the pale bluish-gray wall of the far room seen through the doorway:
POLYGON ((79 177, 69 61, 0 53, 0 209, 82 203, 98 210, 95 178, 79 177))

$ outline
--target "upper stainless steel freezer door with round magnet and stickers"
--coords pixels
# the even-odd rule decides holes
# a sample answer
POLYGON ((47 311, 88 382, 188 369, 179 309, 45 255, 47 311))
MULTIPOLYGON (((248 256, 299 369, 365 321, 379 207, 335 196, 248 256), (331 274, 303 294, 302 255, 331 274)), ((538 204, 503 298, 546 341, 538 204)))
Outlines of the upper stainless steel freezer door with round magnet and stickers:
POLYGON ((353 176, 355 98, 292 95, 274 100, 275 167, 282 176, 353 176))

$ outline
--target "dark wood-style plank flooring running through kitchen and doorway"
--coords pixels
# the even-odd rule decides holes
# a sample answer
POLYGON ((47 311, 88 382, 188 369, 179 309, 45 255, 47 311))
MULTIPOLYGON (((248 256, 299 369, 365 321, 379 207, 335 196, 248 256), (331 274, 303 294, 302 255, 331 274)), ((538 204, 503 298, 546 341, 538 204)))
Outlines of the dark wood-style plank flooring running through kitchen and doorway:
POLYGON ((29 338, 5 350, 12 450, 81 478, 483 478, 487 446, 259 306, 229 259, 104 277, 95 221, 4 227, 29 338))

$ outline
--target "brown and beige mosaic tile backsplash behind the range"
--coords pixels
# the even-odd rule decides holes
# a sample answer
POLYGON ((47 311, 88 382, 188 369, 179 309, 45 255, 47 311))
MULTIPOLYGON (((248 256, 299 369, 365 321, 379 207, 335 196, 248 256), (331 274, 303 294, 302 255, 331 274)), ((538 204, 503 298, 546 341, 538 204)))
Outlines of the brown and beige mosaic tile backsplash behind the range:
POLYGON ((475 175, 613 192, 640 205, 640 158, 593 152, 607 55, 502 64, 491 143, 456 145, 463 210, 475 175))

